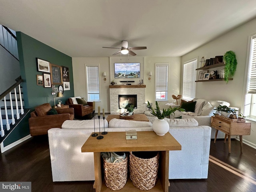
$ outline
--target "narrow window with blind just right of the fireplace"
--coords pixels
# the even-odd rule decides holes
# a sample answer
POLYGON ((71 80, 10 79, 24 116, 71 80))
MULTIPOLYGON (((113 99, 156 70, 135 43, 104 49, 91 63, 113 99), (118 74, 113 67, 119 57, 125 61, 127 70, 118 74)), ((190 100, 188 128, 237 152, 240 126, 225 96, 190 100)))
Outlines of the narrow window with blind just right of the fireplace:
POLYGON ((168 100, 168 63, 156 63, 156 100, 168 100))

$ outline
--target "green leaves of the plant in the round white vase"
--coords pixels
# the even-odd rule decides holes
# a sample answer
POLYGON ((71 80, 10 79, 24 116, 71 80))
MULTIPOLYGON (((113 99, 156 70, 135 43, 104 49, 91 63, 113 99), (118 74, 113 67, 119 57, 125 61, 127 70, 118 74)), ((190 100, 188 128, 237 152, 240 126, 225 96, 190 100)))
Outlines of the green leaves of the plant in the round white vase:
POLYGON ((170 107, 170 108, 168 108, 167 110, 166 110, 166 109, 163 109, 162 112, 161 112, 161 110, 160 110, 160 108, 159 108, 159 106, 158 106, 157 101, 156 101, 156 109, 153 109, 152 103, 150 103, 149 101, 148 101, 148 104, 147 104, 147 108, 149 108, 149 109, 152 111, 151 114, 153 114, 154 116, 156 116, 158 119, 164 119, 166 116, 170 116, 170 114, 172 114, 172 113, 174 114, 174 112, 175 112, 176 110, 185 111, 185 110, 182 109, 182 108, 178 108, 178 107, 172 108, 172 107, 170 107))

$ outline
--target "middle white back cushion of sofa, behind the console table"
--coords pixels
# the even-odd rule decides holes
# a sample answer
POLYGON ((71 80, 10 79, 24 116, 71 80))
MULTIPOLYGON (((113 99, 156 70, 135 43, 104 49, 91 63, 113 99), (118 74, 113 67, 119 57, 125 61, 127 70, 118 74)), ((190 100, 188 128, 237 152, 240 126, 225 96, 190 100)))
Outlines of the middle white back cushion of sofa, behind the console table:
POLYGON ((146 122, 146 121, 133 121, 133 120, 125 120, 125 119, 112 119, 108 123, 108 127, 112 128, 120 128, 120 127, 152 127, 151 122, 146 122))

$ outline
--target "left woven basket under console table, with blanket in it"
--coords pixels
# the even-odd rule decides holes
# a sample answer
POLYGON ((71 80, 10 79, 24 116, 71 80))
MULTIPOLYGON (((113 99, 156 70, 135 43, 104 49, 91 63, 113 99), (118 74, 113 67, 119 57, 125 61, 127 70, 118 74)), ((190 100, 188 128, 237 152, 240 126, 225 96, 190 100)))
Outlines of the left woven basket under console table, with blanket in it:
MULTIPOLYGON (((118 159, 117 159, 118 160, 118 159)), ((109 163, 103 158, 105 183, 111 190, 120 190, 127 181, 128 157, 119 163, 109 163)))

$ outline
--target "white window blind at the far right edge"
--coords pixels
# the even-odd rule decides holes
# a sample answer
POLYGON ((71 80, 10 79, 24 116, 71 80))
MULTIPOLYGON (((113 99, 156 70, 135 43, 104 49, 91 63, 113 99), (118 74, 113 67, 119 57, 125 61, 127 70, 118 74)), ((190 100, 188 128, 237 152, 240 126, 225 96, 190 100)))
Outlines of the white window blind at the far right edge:
POLYGON ((252 37, 247 93, 256 94, 256 36, 252 37))

